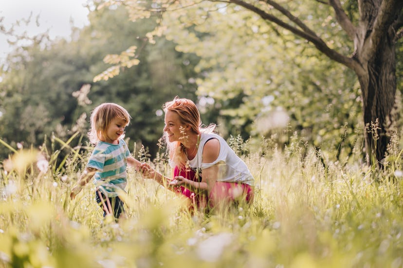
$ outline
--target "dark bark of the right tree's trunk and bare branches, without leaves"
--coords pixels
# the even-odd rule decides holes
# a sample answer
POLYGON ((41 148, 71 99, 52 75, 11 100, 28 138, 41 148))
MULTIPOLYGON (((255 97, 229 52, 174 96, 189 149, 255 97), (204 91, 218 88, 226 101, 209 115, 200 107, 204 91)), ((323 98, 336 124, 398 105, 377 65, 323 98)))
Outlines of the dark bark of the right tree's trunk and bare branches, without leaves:
POLYGON ((244 0, 228 1, 305 38, 330 59, 355 71, 361 85, 364 123, 368 126, 364 134, 368 164, 382 162, 390 141, 388 128, 393 121, 390 116, 396 94, 395 43, 400 34, 403 35, 399 32, 403 26, 403 0, 358 0, 360 20, 357 27, 349 20, 340 0, 329 0, 336 20, 354 41, 352 57, 330 49, 316 33, 275 0, 265 2, 293 21, 297 27, 252 3, 244 0))

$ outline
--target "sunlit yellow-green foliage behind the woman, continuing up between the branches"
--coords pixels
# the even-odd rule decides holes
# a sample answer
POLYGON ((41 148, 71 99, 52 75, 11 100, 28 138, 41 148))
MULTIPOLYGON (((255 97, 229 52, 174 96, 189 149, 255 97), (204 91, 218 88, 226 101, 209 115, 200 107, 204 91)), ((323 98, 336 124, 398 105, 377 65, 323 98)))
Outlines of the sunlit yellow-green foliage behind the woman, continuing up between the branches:
MULTIPOLYGON (((264 3, 256 5, 266 10, 264 3)), ((140 2, 125 6, 133 21, 143 20, 136 10, 154 11, 158 24, 152 33, 163 31, 177 50, 201 57, 195 67, 199 106, 205 121, 219 123, 224 136, 270 136, 289 127, 316 147, 332 142, 330 151, 340 154, 343 148, 345 154, 351 153, 352 136, 363 126, 359 84, 347 67, 237 5, 163 0, 151 8, 140 2), (214 101, 205 103, 206 98, 214 101)), ((291 1, 283 6, 323 36, 330 48, 353 52, 351 42, 329 15, 333 13, 329 5, 291 1)), ((356 4, 348 1, 345 6, 348 16, 355 18, 356 4)), ((287 20, 276 10, 267 12, 287 20)))

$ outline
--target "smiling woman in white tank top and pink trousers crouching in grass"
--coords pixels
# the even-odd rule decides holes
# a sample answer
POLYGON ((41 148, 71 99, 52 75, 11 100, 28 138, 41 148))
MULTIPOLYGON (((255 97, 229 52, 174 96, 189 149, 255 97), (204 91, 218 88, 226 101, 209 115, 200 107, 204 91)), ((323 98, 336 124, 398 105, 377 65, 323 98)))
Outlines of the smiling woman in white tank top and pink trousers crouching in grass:
POLYGON ((189 198, 192 208, 225 208, 239 201, 251 204, 254 178, 225 140, 213 134, 214 124, 202 128, 195 103, 176 97, 163 108, 164 137, 174 179, 144 163, 141 169, 148 171, 147 177, 189 198))

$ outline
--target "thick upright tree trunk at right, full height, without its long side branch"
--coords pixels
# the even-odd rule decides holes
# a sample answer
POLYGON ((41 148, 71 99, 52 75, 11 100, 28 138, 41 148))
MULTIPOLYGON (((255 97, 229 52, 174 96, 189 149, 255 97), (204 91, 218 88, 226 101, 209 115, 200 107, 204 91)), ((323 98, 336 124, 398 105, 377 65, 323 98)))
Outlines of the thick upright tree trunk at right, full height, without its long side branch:
POLYGON ((359 1, 360 23, 354 39, 353 67, 361 85, 367 164, 382 163, 390 142, 388 129, 396 94, 396 33, 403 3, 359 1))

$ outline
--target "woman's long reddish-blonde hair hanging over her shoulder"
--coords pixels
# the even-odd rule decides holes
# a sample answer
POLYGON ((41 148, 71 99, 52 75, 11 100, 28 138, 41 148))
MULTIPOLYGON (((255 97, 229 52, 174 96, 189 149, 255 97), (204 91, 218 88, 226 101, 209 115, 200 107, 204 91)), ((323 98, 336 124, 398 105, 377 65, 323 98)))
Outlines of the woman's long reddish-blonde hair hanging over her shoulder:
MULTIPOLYGON (((178 114, 179 119, 183 125, 189 125, 190 131, 194 134, 200 135, 203 133, 212 133, 216 128, 215 124, 210 124, 208 127, 202 127, 199 109, 196 104, 188 99, 181 99, 175 97, 172 101, 167 101, 163 105, 163 110, 166 114, 167 111, 172 111, 178 114)), ((164 133, 167 148, 170 152, 171 160, 179 167, 184 168, 186 165, 186 151, 181 142, 172 142, 168 140, 167 133, 164 133)), ((186 133, 183 133, 186 137, 186 133)))

